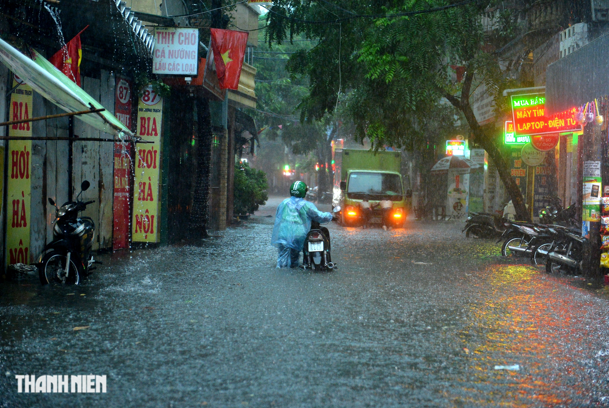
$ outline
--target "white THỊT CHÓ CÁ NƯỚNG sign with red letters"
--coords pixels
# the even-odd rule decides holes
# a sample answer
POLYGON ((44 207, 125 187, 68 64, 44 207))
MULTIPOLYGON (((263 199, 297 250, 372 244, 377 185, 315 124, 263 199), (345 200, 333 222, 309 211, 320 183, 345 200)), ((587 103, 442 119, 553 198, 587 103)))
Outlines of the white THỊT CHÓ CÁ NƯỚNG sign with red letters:
POLYGON ((199 29, 155 27, 153 74, 196 76, 199 68, 199 29))

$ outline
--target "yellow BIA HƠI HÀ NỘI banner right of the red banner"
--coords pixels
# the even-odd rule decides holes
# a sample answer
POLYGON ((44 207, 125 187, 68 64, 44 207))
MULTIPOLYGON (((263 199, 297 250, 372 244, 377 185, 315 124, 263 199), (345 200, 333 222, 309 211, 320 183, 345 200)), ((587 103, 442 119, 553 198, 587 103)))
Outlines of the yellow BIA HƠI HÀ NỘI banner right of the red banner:
POLYGON ((138 136, 149 143, 135 145, 135 183, 133 189, 133 242, 158 242, 160 211, 160 147, 163 99, 147 86, 138 103, 138 136))

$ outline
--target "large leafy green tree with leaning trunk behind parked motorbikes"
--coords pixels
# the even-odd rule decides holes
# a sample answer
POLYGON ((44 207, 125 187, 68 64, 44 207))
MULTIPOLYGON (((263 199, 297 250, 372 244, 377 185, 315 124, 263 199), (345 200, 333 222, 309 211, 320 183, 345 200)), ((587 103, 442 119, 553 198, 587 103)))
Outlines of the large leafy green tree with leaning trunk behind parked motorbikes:
POLYGON ((484 51, 480 16, 487 4, 470 2, 412 14, 449 5, 445 0, 350 0, 339 7, 326 0, 278 0, 267 17, 267 40, 298 33, 319 38, 310 52, 290 58, 291 71, 311 80, 302 116, 323 118, 336 109, 341 88, 348 88, 350 99, 345 102, 357 135, 375 144, 404 146, 404 137, 420 132, 421 124, 437 117, 446 108, 442 101, 448 101, 469 125, 472 141, 495 162, 518 218, 530 220, 499 151, 495 128, 481 127, 470 105, 476 86, 484 83, 499 95, 509 85, 497 55, 484 51), (465 66, 462 82, 452 80, 451 65, 465 66))

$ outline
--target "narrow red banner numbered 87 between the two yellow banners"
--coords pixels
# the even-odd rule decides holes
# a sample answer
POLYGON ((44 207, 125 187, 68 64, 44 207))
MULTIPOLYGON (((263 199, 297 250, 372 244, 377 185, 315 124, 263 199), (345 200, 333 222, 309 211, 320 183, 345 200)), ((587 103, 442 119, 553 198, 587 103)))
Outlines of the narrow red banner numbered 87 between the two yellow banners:
MULTIPOLYGON (((131 83, 127 79, 116 77, 114 116, 130 130, 132 130, 131 113, 131 83)), ((112 249, 114 251, 129 247, 129 200, 132 167, 130 152, 131 143, 114 143, 114 233, 112 236, 112 249)))

